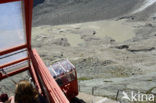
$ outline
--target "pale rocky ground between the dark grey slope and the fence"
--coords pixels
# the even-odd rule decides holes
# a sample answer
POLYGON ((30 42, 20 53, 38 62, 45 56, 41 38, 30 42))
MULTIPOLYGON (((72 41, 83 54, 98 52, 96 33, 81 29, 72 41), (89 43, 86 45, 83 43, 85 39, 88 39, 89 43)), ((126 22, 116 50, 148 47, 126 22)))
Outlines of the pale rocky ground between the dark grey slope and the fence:
POLYGON ((81 92, 112 99, 118 90, 155 94, 155 25, 122 19, 40 26, 32 43, 47 66, 68 58, 81 92))

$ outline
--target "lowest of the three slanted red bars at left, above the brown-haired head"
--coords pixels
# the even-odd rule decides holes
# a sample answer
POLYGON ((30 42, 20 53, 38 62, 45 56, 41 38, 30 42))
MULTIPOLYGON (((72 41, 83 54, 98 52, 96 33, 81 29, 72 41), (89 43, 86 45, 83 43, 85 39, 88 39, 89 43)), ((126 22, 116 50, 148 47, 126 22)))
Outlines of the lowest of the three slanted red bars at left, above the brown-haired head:
POLYGON ((13 71, 13 72, 10 72, 10 73, 8 73, 7 75, 2 75, 2 76, 0 77, 0 80, 5 79, 5 78, 8 78, 8 76, 13 76, 13 75, 16 75, 16 74, 18 74, 18 73, 24 72, 24 71, 26 71, 26 70, 28 70, 28 69, 29 69, 29 67, 24 67, 24 68, 20 68, 20 69, 18 69, 18 70, 15 70, 15 71, 13 71))

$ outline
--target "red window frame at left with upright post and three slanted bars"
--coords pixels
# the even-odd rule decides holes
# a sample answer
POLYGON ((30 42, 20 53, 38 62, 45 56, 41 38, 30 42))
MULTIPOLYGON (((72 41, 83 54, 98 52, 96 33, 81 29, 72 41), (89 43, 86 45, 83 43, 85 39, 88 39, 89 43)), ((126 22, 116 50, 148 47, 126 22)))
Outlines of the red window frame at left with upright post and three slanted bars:
MULTIPOLYGON (((28 56, 25 58, 21 58, 19 60, 15 60, 6 64, 2 64, 0 65, 0 70, 3 69, 4 67, 7 66, 11 66, 13 64, 17 64, 20 62, 23 62, 25 60, 28 60, 28 67, 23 68, 19 68, 15 71, 12 71, 10 73, 8 73, 7 75, 15 75, 18 74, 20 72, 26 71, 28 69, 30 69, 30 52, 31 52, 31 28, 32 28, 32 9, 33 9, 33 0, 0 0, 0 4, 4 4, 4 3, 11 3, 11 2, 16 2, 16 1, 21 1, 23 2, 23 15, 24 15, 24 30, 25 30, 25 37, 26 37, 26 43, 25 44, 20 44, 17 46, 13 46, 4 50, 0 50, 0 56, 8 54, 8 53, 12 53, 15 52, 17 50, 21 50, 21 49, 27 49, 28 52, 28 56)), ((1 79, 7 78, 6 75, 2 75, 2 77, 0 77, 1 79)))

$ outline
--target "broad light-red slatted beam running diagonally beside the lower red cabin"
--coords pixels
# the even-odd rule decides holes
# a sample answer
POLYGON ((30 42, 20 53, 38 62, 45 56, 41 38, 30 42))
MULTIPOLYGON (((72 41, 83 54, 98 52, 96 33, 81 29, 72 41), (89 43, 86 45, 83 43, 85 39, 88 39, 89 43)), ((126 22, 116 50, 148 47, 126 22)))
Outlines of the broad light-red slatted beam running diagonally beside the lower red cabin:
POLYGON ((54 78, 51 76, 50 71, 43 63, 36 50, 30 53, 32 64, 39 73, 42 81, 48 91, 49 100, 51 103, 69 103, 66 96, 63 94, 61 88, 58 86, 54 78))

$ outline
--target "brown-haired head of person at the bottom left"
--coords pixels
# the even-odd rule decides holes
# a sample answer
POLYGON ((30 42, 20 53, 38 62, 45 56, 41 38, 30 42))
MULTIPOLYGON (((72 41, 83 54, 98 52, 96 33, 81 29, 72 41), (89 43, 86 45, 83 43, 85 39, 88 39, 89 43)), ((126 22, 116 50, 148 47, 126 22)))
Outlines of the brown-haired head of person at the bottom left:
POLYGON ((16 84, 15 89, 16 103, 38 103, 38 93, 31 83, 22 80, 16 84))

